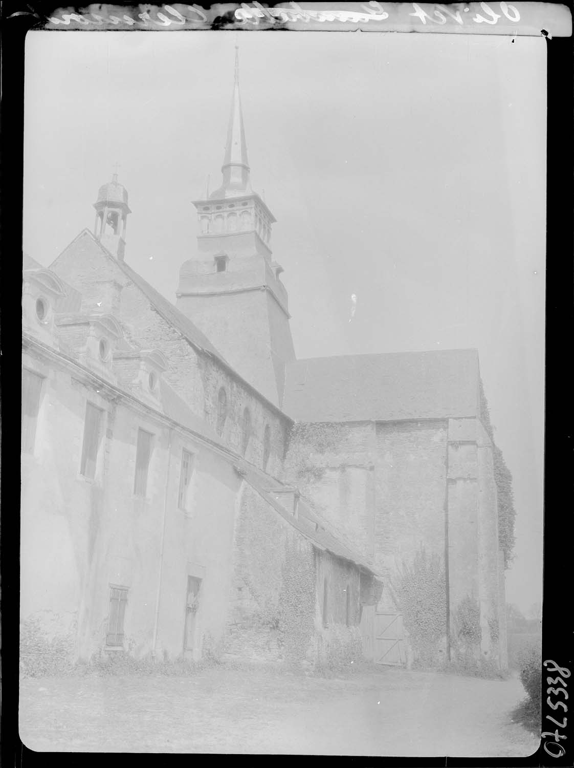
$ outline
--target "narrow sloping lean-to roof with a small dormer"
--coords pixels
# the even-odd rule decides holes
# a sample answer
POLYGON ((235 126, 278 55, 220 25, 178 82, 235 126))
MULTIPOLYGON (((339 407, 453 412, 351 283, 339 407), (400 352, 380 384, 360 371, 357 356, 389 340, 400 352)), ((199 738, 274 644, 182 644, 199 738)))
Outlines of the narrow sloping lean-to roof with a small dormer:
POLYGON ((366 558, 363 558, 361 554, 358 554, 350 545, 341 541, 338 535, 330 530, 328 522, 320 518, 316 512, 302 499, 299 499, 299 505, 297 507, 297 517, 292 515, 282 504, 278 502, 272 496, 272 491, 280 489, 282 486, 279 482, 272 482, 272 478, 267 475, 263 475, 262 472, 256 471, 251 466, 245 465, 242 467, 246 482, 256 490, 259 495, 265 499, 266 502, 271 505, 275 511, 281 515, 281 517, 299 531, 308 541, 312 542, 312 545, 320 550, 326 550, 331 554, 334 554, 338 558, 348 560, 355 563, 364 571, 372 574, 376 578, 381 578, 381 574, 378 574, 374 570, 373 564, 371 564, 366 558))

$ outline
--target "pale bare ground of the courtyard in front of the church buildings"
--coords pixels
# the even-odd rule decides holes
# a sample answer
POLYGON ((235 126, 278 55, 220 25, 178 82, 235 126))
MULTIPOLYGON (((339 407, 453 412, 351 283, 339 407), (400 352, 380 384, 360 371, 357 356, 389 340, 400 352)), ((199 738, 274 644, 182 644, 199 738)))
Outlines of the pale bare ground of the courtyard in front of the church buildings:
POLYGON ((519 680, 393 668, 325 680, 272 670, 25 679, 20 737, 56 752, 527 756, 519 680))

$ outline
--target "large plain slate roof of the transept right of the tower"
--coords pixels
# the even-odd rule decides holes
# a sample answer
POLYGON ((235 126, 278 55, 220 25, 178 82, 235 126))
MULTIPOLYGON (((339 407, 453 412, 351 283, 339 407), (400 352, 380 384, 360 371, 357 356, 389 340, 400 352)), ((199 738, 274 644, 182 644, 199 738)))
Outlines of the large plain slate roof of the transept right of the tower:
POLYGON ((283 410, 299 422, 477 415, 476 349, 348 355, 287 364, 283 410))

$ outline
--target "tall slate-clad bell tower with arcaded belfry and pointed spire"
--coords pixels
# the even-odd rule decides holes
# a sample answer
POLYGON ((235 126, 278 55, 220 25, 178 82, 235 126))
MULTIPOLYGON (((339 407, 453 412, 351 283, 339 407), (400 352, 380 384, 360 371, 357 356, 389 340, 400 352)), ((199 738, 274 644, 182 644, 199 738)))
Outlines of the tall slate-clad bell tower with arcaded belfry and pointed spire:
POLYGON ((197 247, 180 269, 176 306, 244 379, 281 405, 285 362, 295 353, 283 270, 269 247, 275 217, 249 179, 237 48, 221 172, 215 192, 193 201, 197 247))

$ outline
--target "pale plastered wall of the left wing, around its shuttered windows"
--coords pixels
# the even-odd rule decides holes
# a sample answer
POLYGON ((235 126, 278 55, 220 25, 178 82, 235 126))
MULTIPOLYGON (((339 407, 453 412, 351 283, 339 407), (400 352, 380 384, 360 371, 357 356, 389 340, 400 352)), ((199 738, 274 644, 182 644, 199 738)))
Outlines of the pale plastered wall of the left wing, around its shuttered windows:
POLYGON ((183 652, 188 576, 201 578, 196 637, 218 643, 229 599, 239 478, 231 462, 145 406, 107 399, 81 369, 31 348, 45 376, 35 449, 22 455, 21 617, 71 617, 78 657, 105 646, 111 585, 128 589, 124 648, 183 652), (103 412, 94 479, 80 474, 86 402, 103 412), (145 498, 134 496, 137 429, 153 435, 145 498), (193 455, 186 508, 178 504, 182 450, 193 455), (163 565, 162 565, 163 562, 163 565), (159 609, 159 610, 158 610, 159 609), (75 629, 74 629, 75 632, 75 629))

